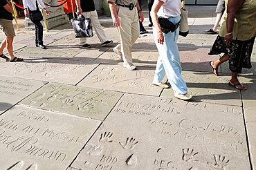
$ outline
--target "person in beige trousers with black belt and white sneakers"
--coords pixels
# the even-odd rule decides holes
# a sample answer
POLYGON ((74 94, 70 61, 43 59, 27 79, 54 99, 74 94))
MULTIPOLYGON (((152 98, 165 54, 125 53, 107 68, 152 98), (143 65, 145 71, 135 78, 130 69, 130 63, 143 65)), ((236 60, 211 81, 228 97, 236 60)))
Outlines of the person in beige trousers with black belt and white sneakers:
POLYGON ((139 23, 144 21, 143 12, 137 0, 108 0, 113 26, 116 27, 121 44, 113 51, 123 59, 123 66, 128 70, 135 70, 132 63, 131 46, 140 35, 139 23), (138 19, 138 15, 140 19, 138 19))

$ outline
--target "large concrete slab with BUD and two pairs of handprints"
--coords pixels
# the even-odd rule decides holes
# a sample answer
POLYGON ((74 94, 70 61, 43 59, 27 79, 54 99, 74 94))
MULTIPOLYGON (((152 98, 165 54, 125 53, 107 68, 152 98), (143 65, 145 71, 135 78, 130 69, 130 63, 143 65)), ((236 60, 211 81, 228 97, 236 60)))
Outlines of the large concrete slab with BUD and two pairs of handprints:
POLYGON ((70 169, 249 170, 241 107, 125 94, 70 169))

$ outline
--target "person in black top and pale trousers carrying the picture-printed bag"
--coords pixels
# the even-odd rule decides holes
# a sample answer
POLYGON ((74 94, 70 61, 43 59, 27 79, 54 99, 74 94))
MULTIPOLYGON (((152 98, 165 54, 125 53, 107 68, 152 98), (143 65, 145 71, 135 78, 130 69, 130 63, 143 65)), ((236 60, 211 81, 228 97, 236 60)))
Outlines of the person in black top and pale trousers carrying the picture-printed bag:
MULTIPOLYGON (((94 1, 75 0, 75 3, 77 6, 77 15, 84 15, 84 17, 91 19, 93 30, 96 32, 98 39, 100 39, 101 46, 108 46, 109 44, 112 44, 113 41, 107 39, 107 36, 105 35, 105 32, 102 26, 100 25, 94 1)), ((86 44, 86 38, 79 38, 79 40, 79 46, 81 48, 91 48, 89 44, 86 44)))

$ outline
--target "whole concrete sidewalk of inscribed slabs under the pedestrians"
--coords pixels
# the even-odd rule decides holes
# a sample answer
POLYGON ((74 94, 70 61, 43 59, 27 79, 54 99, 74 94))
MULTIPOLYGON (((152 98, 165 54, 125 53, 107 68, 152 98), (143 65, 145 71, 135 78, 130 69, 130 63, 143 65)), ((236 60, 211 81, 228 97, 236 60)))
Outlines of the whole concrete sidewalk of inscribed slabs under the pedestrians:
POLYGON ((239 76, 248 90, 236 91, 228 64, 219 77, 209 65, 219 58, 208 55, 217 35, 205 34, 215 6, 186 8, 190 34, 179 50, 190 102, 152 84, 158 51, 147 12, 134 71, 113 53, 120 40, 111 18, 100 21, 113 45, 93 36, 89 49, 71 23, 44 32, 46 50, 21 26, 14 48, 24 62, 0 59, 0 169, 255 169, 255 47, 253 68, 239 76))

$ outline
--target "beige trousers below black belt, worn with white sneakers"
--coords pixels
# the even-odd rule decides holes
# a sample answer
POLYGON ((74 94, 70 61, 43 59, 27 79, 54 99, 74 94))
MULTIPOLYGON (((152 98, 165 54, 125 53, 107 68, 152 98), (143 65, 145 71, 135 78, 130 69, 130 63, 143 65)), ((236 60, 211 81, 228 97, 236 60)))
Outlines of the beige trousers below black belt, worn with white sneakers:
POLYGON ((129 10, 129 8, 120 7, 118 17, 121 23, 121 26, 117 28, 121 44, 118 44, 116 48, 122 52, 124 62, 131 64, 131 46, 140 36, 137 10, 136 8, 129 10))

